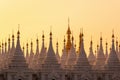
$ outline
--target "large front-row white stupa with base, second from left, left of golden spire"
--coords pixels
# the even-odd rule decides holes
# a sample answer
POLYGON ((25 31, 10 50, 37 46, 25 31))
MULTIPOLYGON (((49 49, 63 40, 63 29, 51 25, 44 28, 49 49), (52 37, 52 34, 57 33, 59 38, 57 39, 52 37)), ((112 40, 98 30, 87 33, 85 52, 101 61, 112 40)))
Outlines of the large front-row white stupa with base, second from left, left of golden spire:
POLYGON ((49 48, 44 63, 42 65, 41 73, 42 80, 63 80, 63 70, 58 63, 52 46, 52 32, 50 32, 49 48))

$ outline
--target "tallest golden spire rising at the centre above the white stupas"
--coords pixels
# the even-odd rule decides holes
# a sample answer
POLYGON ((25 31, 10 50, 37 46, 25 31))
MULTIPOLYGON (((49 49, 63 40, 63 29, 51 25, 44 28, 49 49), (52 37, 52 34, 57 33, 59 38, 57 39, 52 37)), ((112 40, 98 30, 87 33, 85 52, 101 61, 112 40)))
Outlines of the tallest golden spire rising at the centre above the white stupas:
POLYGON ((71 48, 71 30, 70 30, 70 20, 68 18, 67 44, 66 44, 67 53, 69 52, 70 48, 71 48))

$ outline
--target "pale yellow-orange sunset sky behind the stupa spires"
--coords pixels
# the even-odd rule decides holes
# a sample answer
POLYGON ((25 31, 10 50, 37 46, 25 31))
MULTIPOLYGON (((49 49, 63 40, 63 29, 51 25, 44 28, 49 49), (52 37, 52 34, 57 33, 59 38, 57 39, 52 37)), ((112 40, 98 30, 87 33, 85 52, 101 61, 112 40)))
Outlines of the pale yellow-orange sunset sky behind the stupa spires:
POLYGON ((104 47, 106 39, 111 45, 113 29, 115 37, 120 40, 120 0, 0 0, 0 41, 7 39, 12 32, 16 36, 20 24, 22 46, 31 39, 36 44, 38 36, 41 48, 41 35, 44 31, 45 45, 48 47, 52 26, 54 50, 58 40, 61 53, 68 17, 77 47, 80 28, 83 28, 87 54, 91 36, 94 51, 99 44, 101 32, 104 47))

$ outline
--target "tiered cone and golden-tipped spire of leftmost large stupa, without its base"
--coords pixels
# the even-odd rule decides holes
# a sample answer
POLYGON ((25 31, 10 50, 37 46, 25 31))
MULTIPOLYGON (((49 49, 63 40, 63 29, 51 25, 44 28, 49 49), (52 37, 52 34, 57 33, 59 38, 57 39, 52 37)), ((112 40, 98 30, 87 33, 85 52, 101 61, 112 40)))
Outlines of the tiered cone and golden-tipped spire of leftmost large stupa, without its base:
MULTIPOLYGON (((20 26, 20 25, 18 25, 20 26)), ((13 57, 11 59, 11 63, 9 64, 9 68, 11 69, 26 69, 28 68, 28 65, 26 64, 26 60, 24 58, 23 51, 20 46, 20 31, 18 29, 17 32, 17 44, 16 44, 16 49, 15 52, 13 53, 13 57)))

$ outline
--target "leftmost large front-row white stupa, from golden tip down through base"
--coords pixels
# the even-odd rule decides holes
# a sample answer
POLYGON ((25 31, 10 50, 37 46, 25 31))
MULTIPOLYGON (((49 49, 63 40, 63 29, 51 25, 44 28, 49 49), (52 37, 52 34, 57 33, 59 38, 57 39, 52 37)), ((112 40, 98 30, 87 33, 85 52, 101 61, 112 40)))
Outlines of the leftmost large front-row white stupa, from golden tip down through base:
POLYGON ((7 80, 32 80, 32 70, 28 68, 20 46, 20 32, 17 33, 17 44, 13 57, 7 69, 7 80))

